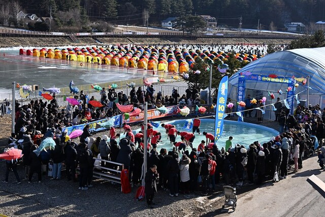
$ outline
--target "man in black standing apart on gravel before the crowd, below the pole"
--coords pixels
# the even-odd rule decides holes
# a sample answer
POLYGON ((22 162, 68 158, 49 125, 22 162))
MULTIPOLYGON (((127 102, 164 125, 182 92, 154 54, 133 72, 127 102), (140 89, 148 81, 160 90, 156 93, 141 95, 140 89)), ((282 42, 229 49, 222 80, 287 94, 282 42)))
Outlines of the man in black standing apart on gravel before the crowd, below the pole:
POLYGON ((153 208, 152 205, 154 203, 152 202, 154 193, 157 192, 157 180, 158 174, 157 174, 157 166, 152 165, 150 169, 147 171, 144 181, 145 181, 145 193, 146 193, 146 200, 148 207, 153 208))

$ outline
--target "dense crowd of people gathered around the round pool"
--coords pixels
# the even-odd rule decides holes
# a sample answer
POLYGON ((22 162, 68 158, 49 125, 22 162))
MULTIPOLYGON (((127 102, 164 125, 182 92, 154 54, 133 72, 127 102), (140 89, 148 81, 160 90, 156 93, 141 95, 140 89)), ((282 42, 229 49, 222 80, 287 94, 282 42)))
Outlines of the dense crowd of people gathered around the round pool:
MULTIPOLYGON (((148 99, 148 101, 154 100, 156 104, 160 100, 163 104, 164 98, 161 95, 159 97, 159 93, 154 98, 153 92, 152 86, 146 91, 141 88, 135 91, 133 88, 130 93, 130 103, 137 104, 140 102, 138 98, 141 98, 141 102, 148 99), (138 101, 135 101, 135 98, 138 101)), ((8 147, 22 149, 24 178, 28 182, 32 181, 34 173, 38 174, 37 180, 41 182, 42 172, 49 169, 49 162, 53 165, 52 179, 61 179, 61 167, 64 162, 67 179, 79 181, 78 188, 87 190, 92 187, 93 158, 100 156, 103 160, 123 164, 129 171, 130 181, 136 186, 141 184, 144 161, 143 125, 142 131, 134 135, 132 128, 124 124, 125 138, 120 139, 119 143, 120 134, 117 134, 113 127, 110 128, 108 135, 93 138, 89 125, 86 125, 79 141, 67 139, 66 132, 62 131, 66 126, 112 116, 117 111, 114 103, 128 103, 128 97, 122 92, 116 93, 114 89, 109 89, 108 92, 103 89, 101 96, 101 101, 108 107, 106 113, 105 109, 95 109, 90 104, 86 104, 83 91, 78 96, 82 101, 80 106, 68 105, 62 110, 58 109, 55 96, 49 104, 42 100, 35 100, 21 107, 17 105, 16 133, 9 138, 8 147), (55 141, 54 150, 43 150, 38 156, 34 150, 39 147, 44 138, 48 137, 55 141), (79 180, 76 176, 78 166, 79 180)), ((180 96, 177 90, 174 90, 172 100, 165 99, 164 103, 181 105, 180 102, 185 101, 184 105, 191 105, 189 100, 198 96, 196 88, 189 88, 178 99, 180 96)), ((166 129, 165 135, 154 130, 148 123, 148 172, 145 174, 148 206, 152 207, 154 192, 159 189, 168 191, 172 197, 177 197, 179 193, 188 194, 198 191, 206 195, 208 191, 215 191, 216 184, 243 185, 245 179, 248 180, 248 184, 259 184, 271 179, 277 182, 286 178, 291 166, 294 167, 294 172, 298 172, 303 167, 302 158, 309 156, 315 147, 322 147, 325 135, 323 124, 325 109, 321 112, 319 105, 298 106, 294 115, 279 110, 277 120, 281 127, 280 135, 264 144, 254 141, 248 148, 240 144, 233 145, 233 137, 230 137, 225 144, 220 145, 222 148, 219 149, 214 143, 213 132, 202 132, 206 140, 202 140, 199 144, 195 140, 195 134, 201 134, 201 121, 198 117, 193 120, 192 133, 181 132, 175 126, 163 123, 161 127, 166 129), (158 150, 161 137, 169 138, 171 150, 165 148, 158 150)), ((318 153, 319 165, 322 168, 324 168, 322 155, 324 153, 325 148, 318 153)), ((118 169, 116 165, 104 161, 101 163, 103 168, 118 169)), ((9 172, 12 170, 16 175, 17 183, 20 183, 17 163, 6 161, 6 165, 6 177, 3 182, 8 182, 9 172)))

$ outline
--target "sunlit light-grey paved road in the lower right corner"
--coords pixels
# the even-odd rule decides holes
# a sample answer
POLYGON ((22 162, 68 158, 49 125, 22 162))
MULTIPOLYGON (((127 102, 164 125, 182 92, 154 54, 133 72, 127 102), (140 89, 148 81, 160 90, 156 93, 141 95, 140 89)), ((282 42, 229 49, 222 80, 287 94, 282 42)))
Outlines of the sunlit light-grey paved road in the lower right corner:
POLYGON ((278 183, 268 182, 239 198, 231 216, 324 216, 325 199, 306 181, 313 174, 325 180, 325 172, 318 169, 316 161, 316 156, 309 158, 301 172, 278 183))

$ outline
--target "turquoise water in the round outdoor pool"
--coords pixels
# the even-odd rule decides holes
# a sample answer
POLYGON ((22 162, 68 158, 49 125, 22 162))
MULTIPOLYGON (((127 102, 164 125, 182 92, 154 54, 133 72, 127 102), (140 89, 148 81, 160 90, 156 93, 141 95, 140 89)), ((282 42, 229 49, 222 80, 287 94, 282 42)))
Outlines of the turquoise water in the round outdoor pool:
MULTIPOLYGON (((176 129, 180 132, 186 131, 183 129, 185 125, 184 119, 168 121, 164 123, 171 123, 172 125, 175 125, 176 129)), ((158 128, 153 127, 153 129, 161 133, 161 141, 157 146, 157 150, 159 151, 161 148, 166 148, 167 150, 173 150, 173 147, 175 146, 170 143, 169 139, 167 139, 165 128, 159 125, 158 128)), ((140 129, 134 131, 134 133, 137 133, 139 131, 140 129)), ((192 143, 193 147, 198 148, 199 144, 201 143, 201 140, 206 141, 205 136, 202 134, 204 131, 214 134, 213 133, 214 119, 201 119, 201 127, 200 127, 201 135, 199 135, 198 133, 194 133, 195 139, 192 143)), ((186 132, 191 133, 192 130, 186 132)), ((219 149, 221 149, 221 147, 224 147, 225 141, 228 140, 230 136, 233 137, 232 140, 233 147, 238 143, 244 145, 245 147, 248 147, 254 141, 258 141, 261 144, 265 142, 269 142, 273 136, 277 136, 278 134, 279 132, 277 132, 276 130, 264 126, 254 125, 252 123, 246 123, 246 122, 224 120, 223 133, 222 136, 217 141, 217 146, 219 149)), ((176 141, 177 142, 181 141, 181 137, 179 135, 176 137, 176 141)), ((191 150, 189 146, 187 147, 187 149, 189 151, 191 150)))

